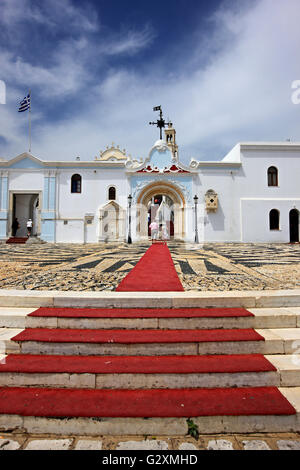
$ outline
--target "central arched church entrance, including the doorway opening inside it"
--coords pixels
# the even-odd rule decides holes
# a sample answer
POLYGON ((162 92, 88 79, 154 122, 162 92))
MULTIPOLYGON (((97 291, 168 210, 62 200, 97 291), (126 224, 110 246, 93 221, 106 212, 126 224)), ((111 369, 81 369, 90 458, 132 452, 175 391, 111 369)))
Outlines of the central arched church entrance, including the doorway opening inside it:
POLYGON ((150 237, 150 223, 156 220, 160 237, 183 240, 184 215, 185 199, 178 187, 169 182, 150 183, 137 197, 137 237, 150 237))

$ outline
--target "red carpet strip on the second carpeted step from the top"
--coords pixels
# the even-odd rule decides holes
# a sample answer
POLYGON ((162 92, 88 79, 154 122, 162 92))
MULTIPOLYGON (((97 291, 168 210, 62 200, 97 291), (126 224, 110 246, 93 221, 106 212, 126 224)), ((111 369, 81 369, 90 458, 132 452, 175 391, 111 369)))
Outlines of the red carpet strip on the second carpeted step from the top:
POLYGON ((264 341, 253 329, 211 330, 91 330, 28 328, 12 341, 49 343, 201 343, 211 341, 264 341))

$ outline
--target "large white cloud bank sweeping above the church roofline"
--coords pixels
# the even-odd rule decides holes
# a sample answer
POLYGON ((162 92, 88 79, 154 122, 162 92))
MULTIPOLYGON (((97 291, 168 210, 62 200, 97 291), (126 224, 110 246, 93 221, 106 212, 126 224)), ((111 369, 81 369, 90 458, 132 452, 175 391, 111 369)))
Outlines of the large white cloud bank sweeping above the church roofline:
MULTIPOLYGON (((106 65, 103 48, 111 55, 137 52, 139 45, 151 43, 147 28, 122 37, 111 35, 100 45, 85 36, 79 42, 67 41, 55 51, 48 67, 26 63, 23 68, 22 63, 20 70, 25 70, 26 77, 44 83, 52 97, 62 80, 61 96, 73 93, 76 98, 81 93, 76 115, 59 123, 35 123, 33 153, 45 159, 68 160, 77 155, 92 159, 114 141, 134 157, 145 157, 158 135, 148 122, 155 119, 152 107, 159 104, 174 122, 185 161, 222 158, 243 140, 300 140, 300 105, 291 101, 291 84, 300 79, 299 2, 260 0, 244 5, 229 8, 227 3, 219 9, 210 19, 214 29, 205 41, 199 35, 196 43, 193 36, 190 49, 187 41, 184 50, 175 44, 176 64, 156 60, 143 71, 106 65), (203 66, 199 57, 204 45, 209 56, 203 66), (93 59, 103 61, 105 73, 97 75, 87 66, 93 59)), ((8 53, 1 62, 18 78, 8 53)), ((12 123, 15 119, 8 120, 10 127, 3 124, 11 139, 4 149, 11 157, 24 150, 21 129, 12 123)), ((26 131, 22 132, 26 142, 26 131)))

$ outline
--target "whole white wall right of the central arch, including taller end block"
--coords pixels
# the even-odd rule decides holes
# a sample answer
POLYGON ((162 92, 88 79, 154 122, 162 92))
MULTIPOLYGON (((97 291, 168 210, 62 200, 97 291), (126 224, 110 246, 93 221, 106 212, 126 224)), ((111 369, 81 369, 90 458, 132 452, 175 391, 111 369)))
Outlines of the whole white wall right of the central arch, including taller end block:
MULTIPOLYGON (((236 149, 236 147, 235 147, 236 149)), ((293 148, 241 151, 242 166, 200 167, 195 185, 199 203, 213 189, 219 198, 218 210, 208 213, 198 224, 204 241, 289 242, 289 212, 300 211, 300 151, 293 148), (278 187, 269 187, 267 172, 278 169, 278 187), (269 229, 269 212, 280 211, 280 229, 269 229), (204 220, 203 220, 204 219, 204 220), (203 225, 202 225, 203 224, 203 225)))

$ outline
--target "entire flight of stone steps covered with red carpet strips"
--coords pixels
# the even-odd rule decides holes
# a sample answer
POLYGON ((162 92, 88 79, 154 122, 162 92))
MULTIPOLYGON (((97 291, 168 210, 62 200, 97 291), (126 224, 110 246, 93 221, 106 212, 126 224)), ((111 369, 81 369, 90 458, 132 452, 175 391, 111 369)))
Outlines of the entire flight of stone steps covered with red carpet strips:
POLYGON ((72 293, 70 309, 65 294, 35 294, 15 322, 2 310, 1 431, 178 435, 190 419, 204 434, 300 432, 298 306, 201 310, 166 296, 173 308, 149 297, 145 309, 133 294, 129 309, 72 293), (64 311, 38 309, 61 300, 64 311))

